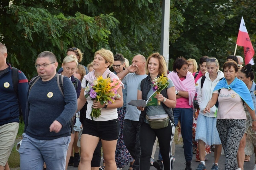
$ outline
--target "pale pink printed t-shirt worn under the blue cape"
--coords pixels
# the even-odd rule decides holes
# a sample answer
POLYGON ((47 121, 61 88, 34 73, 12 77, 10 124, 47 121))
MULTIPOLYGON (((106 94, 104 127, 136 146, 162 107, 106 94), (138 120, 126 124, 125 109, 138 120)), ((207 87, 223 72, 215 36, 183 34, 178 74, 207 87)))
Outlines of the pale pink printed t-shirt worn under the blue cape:
POLYGON ((219 93, 217 119, 246 119, 243 101, 234 90, 222 88, 213 93, 219 93))

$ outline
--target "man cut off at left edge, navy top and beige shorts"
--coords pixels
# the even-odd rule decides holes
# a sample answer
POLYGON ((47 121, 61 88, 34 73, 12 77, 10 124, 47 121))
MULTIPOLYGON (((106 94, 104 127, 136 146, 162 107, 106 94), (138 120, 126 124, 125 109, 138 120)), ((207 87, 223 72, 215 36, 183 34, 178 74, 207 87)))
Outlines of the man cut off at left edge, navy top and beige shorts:
POLYGON ((7 161, 19 129, 19 106, 25 117, 28 91, 28 80, 20 70, 15 91, 15 70, 6 62, 6 58, 7 48, 0 43, 0 170, 9 169, 7 161))

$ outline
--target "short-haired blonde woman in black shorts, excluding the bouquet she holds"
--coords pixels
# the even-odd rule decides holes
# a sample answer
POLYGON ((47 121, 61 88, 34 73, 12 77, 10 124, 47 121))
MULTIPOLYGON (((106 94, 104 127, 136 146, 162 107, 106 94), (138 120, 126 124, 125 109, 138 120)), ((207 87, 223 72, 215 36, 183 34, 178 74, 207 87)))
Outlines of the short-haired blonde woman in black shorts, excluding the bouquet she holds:
MULTIPOLYGON (((114 62, 113 53, 109 50, 101 49, 94 54, 93 71, 84 76, 82 81, 82 90, 77 99, 77 109, 80 110, 85 102, 88 102, 86 118, 84 120, 84 129, 81 136, 81 160, 78 169, 91 169, 91 159, 94 150, 101 140, 106 169, 117 169, 115 163, 115 150, 119 133, 118 107, 123 106, 122 87, 117 90, 121 96, 115 99, 115 103, 103 105, 99 101, 92 101, 90 97, 85 98, 85 87, 93 83, 97 77, 102 76, 103 79, 110 77, 111 80, 119 79, 109 70, 114 62), (88 83, 86 83, 88 82, 88 83), (102 108, 101 115, 98 118, 91 118, 92 108, 102 108)), ((123 84, 122 84, 123 86, 123 84)))

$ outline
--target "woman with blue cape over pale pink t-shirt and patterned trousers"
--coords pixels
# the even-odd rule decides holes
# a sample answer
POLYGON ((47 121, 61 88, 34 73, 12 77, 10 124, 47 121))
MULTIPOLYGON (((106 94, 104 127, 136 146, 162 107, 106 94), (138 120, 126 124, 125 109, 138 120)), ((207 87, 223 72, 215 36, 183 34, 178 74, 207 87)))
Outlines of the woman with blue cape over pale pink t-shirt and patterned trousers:
POLYGON ((234 170, 237 165, 239 143, 246 129, 243 104, 245 103, 252 116, 253 130, 256 130, 256 116, 250 91, 244 90, 247 86, 236 77, 239 70, 237 63, 225 62, 223 70, 225 78, 215 86, 212 98, 203 113, 210 113, 214 105, 218 107, 216 128, 226 155, 225 169, 234 170))

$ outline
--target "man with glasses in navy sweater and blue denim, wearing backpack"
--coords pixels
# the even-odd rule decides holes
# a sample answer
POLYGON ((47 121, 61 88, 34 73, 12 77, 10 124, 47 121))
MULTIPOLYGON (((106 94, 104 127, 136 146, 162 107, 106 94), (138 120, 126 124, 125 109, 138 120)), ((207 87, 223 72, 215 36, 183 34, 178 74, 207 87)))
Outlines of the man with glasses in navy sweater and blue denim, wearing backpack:
POLYGON ((76 112, 77 96, 68 77, 62 77, 60 90, 57 66, 56 56, 49 51, 41 52, 35 62, 39 78, 30 82, 20 170, 42 169, 44 162, 47 169, 65 169, 71 133, 68 122, 76 112))

